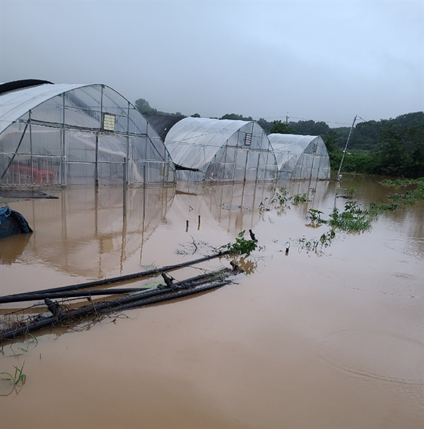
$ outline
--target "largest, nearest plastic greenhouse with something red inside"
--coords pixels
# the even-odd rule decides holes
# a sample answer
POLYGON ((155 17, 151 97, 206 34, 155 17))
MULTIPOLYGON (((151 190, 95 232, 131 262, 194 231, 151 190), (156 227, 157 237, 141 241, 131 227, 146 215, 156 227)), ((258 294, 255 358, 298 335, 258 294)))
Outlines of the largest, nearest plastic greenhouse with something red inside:
POLYGON ((163 141, 112 88, 9 87, 0 85, 1 186, 175 182, 163 141))

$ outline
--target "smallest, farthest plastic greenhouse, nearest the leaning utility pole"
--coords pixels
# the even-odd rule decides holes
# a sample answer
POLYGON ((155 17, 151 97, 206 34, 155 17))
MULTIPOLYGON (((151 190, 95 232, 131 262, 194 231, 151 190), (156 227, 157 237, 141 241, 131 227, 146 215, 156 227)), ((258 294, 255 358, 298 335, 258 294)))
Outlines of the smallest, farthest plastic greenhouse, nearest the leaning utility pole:
POLYGON ((270 134, 278 179, 329 179, 330 159, 319 135, 270 134))

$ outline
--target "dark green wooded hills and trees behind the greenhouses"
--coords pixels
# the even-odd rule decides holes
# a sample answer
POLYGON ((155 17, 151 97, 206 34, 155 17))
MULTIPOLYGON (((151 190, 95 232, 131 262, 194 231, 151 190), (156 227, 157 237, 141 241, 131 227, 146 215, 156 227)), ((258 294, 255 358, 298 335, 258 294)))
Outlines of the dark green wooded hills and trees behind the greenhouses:
MULTIPOLYGON (((146 116, 182 116, 181 112, 158 111, 145 99, 136 100, 136 108, 146 116)), ((192 114, 199 118, 199 114, 192 114)), ((225 114, 215 119, 254 121, 252 116, 225 114)), ((321 135, 329 152, 331 169, 338 170, 351 127, 330 128, 319 121, 266 121, 257 123, 269 133, 321 135)), ((343 172, 379 174, 417 179, 424 177, 424 112, 417 111, 395 119, 365 121, 356 124, 343 159, 343 172)))

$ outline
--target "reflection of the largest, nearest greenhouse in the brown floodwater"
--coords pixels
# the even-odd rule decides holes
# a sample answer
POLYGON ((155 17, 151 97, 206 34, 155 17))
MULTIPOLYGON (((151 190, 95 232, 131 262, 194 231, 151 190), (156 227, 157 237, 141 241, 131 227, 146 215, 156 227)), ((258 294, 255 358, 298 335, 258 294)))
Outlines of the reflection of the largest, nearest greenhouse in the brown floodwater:
POLYGON ((35 234, 4 238, 0 267, 19 259, 88 279, 121 272, 134 256, 141 259, 146 241, 166 222, 174 195, 175 188, 168 186, 131 188, 125 216, 120 186, 69 187, 57 199, 15 202, 35 234), (22 253, 13 257, 16 239, 24 238, 22 253), (8 240, 15 240, 13 246, 6 245, 8 240))

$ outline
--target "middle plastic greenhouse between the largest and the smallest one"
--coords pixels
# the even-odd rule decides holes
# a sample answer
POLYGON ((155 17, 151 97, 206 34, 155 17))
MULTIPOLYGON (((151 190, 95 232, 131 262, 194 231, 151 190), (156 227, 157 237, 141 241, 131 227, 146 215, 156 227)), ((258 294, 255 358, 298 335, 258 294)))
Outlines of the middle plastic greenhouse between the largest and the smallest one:
POLYGON ((272 181, 276 158, 254 121, 184 118, 165 138, 179 181, 272 181))

